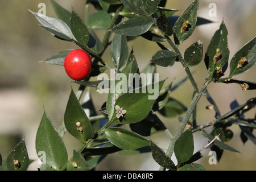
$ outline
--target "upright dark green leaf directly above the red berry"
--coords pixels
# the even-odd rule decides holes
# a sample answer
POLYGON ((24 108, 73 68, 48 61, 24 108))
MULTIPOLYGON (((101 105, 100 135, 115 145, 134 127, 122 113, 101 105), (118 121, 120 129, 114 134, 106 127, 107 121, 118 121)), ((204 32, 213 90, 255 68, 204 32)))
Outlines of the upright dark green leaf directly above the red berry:
POLYGON ((72 10, 71 14, 71 31, 75 36, 77 42, 86 46, 89 41, 89 32, 84 23, 82 23, 82 19, 76 13, 75 10, 72 10))

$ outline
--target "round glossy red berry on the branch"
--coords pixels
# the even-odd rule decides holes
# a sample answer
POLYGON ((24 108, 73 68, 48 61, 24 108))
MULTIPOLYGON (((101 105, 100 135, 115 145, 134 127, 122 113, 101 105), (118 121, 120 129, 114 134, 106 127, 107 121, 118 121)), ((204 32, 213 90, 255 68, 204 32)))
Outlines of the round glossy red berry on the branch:
POLYGON ((88 53, 81 49, 70 51, 64 60, 64 68, 68 76, 73 80, 84 80, 92 67, 88 53))

